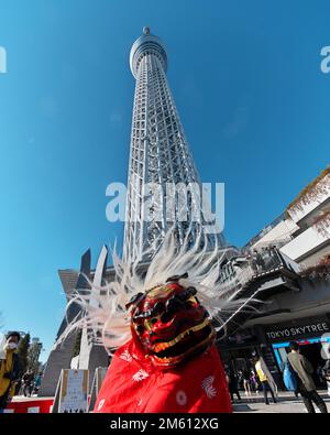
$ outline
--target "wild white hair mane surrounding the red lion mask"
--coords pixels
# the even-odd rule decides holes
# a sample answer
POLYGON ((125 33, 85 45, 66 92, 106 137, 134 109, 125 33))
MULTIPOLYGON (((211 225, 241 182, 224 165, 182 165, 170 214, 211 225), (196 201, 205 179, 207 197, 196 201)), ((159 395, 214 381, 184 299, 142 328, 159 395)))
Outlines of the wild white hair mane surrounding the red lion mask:
POLYGON ((226 285, 219 278, 220 263, 226 255, 223 253, 226 249, 220 250, 217 244, 211 247, 208 238, 201 235, 191 246, 189 232, 184 243, 178 247, 174 233, 172 229, 165 235, 161 248, 150 261, 146 274, 141 273, 141 259, 124 262, 114 249, 112 252, 114 281, 96 286, 86 276, 90 289, 77 289, 72 292, 67 313, 72 304, 78 304, 80 314, 68 322, 55 346, 63 344, 74 330, 87 328, 91 331, 94 342, 103 345, 111 355, 131 338, 130 313, 125 309, 131 297, 156 285, 165 284, 170 276, 185 273, 188 273, 188 278, 180 279, 179 284, 185 287, 196 287, 198 300, 216 320, 218 328, 223 325, 224 313, 228 317, 229 314, 241 311, 242 306, 246 305, 246 301, 234 301, 234 295, 230 298, 223 297, 226 285))

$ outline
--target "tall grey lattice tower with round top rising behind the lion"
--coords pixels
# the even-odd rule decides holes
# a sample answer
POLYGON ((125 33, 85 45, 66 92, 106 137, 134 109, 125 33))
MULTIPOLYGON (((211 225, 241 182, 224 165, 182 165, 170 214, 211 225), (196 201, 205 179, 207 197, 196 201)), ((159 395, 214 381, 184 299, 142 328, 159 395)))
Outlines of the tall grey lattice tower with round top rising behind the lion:
MULTIPOLYGON (((191 152, 167 78, 167 55, 162 41, 143 29, 143 35, 130 53, 131 72, 136 80, 131 131, 128 175, 123 259, 141 258, 146 249, 157 250, 166 230, 175 224, 178 242, 183 242, 190 228, 191 242, 204 231, 206 218, 201 213, 194 219, 196 196, 188 189, 187 218, 179 218, 179 195, 168 189, 178 183, 200 186, 191 152), (147 187, 146 187, 147 186, 147 187), (156 187, 153 187, 156 186, 156 187), (155 189, 157 191, 155 193, 155 189), (144 203, 152 196, 146 218, 144 203), (172 215, 168 218, 168 209, 172 215)), ((220 233, 209 235, 224 244, 220 233)))

